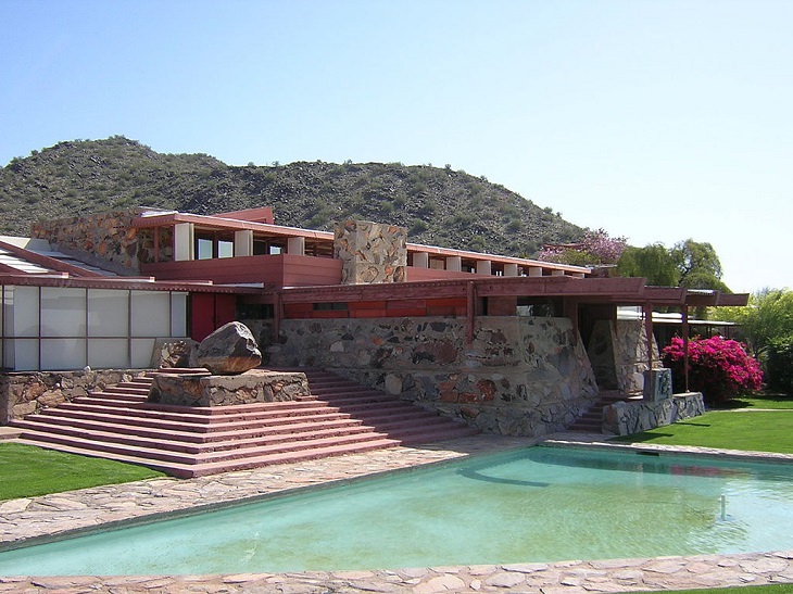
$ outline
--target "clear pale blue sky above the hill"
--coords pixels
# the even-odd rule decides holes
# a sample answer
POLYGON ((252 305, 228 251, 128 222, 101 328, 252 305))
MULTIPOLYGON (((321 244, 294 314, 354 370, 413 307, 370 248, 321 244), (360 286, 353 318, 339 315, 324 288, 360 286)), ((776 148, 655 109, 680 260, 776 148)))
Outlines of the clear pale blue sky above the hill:
POLYGON ((0 30, 2 165, 112 135, 450 164, 793 288, 791 0, 0 0, 0 30))

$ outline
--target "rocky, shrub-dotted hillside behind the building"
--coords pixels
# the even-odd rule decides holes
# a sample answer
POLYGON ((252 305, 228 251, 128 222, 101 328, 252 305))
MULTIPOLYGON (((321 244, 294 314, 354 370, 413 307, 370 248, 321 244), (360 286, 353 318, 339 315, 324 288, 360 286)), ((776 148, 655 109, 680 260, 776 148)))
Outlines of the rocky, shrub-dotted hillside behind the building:
POLYGON ((356 217, 407 227, 416 243, 521 256, 583 232, 551 208, 451 167, 235 167, 206 154, 161 154, 112 137, 60 142, 0 170, 0 235, 27 235, 37 217, 134 205, 197 214, 273 206, 280 225, 325 230, 356 217))

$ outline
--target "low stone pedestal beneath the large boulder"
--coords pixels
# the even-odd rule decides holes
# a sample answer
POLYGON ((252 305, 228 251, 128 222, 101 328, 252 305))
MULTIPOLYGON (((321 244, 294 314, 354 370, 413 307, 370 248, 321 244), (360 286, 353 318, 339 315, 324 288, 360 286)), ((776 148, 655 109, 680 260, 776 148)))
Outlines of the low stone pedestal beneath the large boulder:
POLYGON ((149 402, 180 406, 229 406, 286 402, 311 394, 305 374, 251 369, 239 376, 201 372, 153 375, 149 402))

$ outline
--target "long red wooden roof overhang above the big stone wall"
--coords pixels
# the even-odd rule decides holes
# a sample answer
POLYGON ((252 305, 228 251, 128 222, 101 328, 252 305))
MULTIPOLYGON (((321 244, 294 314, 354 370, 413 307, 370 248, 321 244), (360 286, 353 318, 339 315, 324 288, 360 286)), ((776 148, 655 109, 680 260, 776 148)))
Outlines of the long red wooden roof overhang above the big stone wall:
MULTIPOLYGON (((579 311, 586 306, 639 306, 647 341, 647 366, 653 368, 653 311, 676 307, 682 314, 682 338, 689 340, 689 308, 746 305, 748 294, 652 287, 644 278, 484 277, 387 285, 336 285, 265 289, 254 298, 273 305, 275 333, 284 318, 400 317, 454 315, 466 318, 467 341, 477 316, 488 312, 483 302, 495 303, 494 315, 514 312, 518 298, 552 298, 578 331, 579 311), (340 304, 344 307, 317 307, 340 304)), ((688 365, 687 365, 688 367, 688 365)), ((685 389, 688 390, 688 378, 685 389)))

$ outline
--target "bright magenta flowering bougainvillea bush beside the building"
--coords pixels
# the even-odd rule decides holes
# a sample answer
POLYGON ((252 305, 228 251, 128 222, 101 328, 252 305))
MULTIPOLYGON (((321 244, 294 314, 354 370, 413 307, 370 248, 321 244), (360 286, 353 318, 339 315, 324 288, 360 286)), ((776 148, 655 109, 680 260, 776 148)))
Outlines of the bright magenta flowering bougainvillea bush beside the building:
MULTIPOLYGON (((683 339, 675 337, 663 352, 664 364, 671 369, 672 382, 684 386, 683 339)), ((759 390, 763 372, 757 359, 743 344, 722 337, 689 341, 689 389, 702 392, 705 400, 718 404, 742 393, 759 390)))

